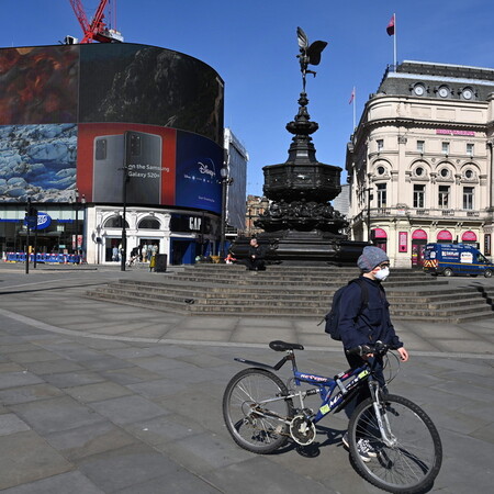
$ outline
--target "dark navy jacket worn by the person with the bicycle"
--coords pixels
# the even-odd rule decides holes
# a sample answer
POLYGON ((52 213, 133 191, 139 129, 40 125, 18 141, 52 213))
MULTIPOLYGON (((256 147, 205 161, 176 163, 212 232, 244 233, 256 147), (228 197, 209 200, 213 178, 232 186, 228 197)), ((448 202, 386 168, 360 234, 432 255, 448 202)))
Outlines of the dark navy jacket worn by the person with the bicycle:
POLYGON ((360 315, 362 303, 361 288, 350 283, 339 303, 339 330, 346 349, 380 340, 394 348, 403 347, 390 318, 390 304, 379 281, 361 277, 367 283, 369 303, 360 315))

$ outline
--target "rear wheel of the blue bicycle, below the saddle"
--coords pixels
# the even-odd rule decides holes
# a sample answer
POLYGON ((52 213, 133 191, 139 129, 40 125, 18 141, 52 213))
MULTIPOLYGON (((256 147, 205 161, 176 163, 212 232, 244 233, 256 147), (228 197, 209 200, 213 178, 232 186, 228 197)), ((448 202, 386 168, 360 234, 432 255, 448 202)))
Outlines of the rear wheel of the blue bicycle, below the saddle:
MULTIPOLYGON (((268 411, 263 400, 288 394, 278 375, 263 369, 250 368, 235 374, 223 395, 223 418, 234 441, 242 448, 268 454, 284 446, 290 436, 289 425, 277 418, 256 414, 268 411)), ((291 400, 269 404, 269 412, 291 419, 294 415, 291 400)))

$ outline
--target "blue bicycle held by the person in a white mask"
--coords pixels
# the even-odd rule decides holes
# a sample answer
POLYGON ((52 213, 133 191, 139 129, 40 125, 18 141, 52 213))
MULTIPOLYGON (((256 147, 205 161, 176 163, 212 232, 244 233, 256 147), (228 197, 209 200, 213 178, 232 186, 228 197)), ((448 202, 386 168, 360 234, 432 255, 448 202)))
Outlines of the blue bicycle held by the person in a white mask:
MULTIPOLYGON (((238 446, 259 454, 273 452, 290 438, 308 446, 316 437, 315 425, 330 412, 340 412, 367 384, 371 397, 356 407, 348 426, 350 456, 358 473, 392 493, 418 493, 433 484, 442 461, 439 433, 418 405, 381 388, 374 375, 378 359, 327 378, 297 370, 294 350, 303 350, 302 345, 277 340, 269 347, 287 355, 274 366, 235 358, 252 367, 235 374, 223 396, 225 424, 238 446), (272 371, 288 361, 293 377, 285 385, 272 371), (303 383, 315 388, 295 391, 291 382, 293 388, 303 383), (314 412, 305 407, 304 400, 316 394, 322 403, 314 412), (374 452, 366 461, 358 451, 361 439, 369 441, 374 452)), ((384 357, 389 350, 378 343, 348 352, 384 357)))

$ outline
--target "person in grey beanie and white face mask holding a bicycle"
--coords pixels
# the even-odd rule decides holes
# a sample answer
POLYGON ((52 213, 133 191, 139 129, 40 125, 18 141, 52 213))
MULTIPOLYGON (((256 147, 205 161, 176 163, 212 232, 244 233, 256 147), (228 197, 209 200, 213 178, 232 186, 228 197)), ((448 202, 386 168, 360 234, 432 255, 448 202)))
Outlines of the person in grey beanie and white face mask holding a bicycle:
MULTIPOLYGON (((384 250, 368 246, 357 260, 357 266, 362 271, 360 277, 364 285, 361 287, 360 283, 350 283, 345 291, 345 295, 340 299, 338 328, 341 334, 345 350, 358 347, 359 345, 374 345, 375 341, 382 341, 395 348, 402 361, 406 362, 408 360, 408 352, 396 336, 394 327, 391 324, 390 304, 388 303, 384 289, 381 285, 381 282, 390 276, 389 257, 384 250), (364 306, 362 306, 362 290, 367 291, 368 303, 364 306)), ((345 352, 345 356, 352 369, 361 367, 363 359, 368 358, 347 355, 347 352, 345 352)), ((378 359, 375 377, 385 389, 382 361, 379 357, 378 359)), ((362 386, 355 406, 369 395, 369 389, 362 386)), ((363 461, 370 461, 370 457, 375 457, 375 452, 372 451, 369 444, 364 444, 363 439, 361 441, 362 444, 360 441, 358 444, 359 454, 363 461)), ((348 447, 347 435, 344 435, 343 442, 348 447)))

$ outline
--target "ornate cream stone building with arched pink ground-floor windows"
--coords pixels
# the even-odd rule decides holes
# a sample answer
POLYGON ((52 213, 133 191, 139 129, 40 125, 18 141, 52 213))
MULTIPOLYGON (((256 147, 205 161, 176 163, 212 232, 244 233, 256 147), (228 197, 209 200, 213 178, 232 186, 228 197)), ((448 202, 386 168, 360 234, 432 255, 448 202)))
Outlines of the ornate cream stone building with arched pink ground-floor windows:
POLYGON ((431 242, 493 255, 494 69, 403 61, 347 147, 352 239, 420 267, 431 242))

